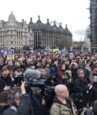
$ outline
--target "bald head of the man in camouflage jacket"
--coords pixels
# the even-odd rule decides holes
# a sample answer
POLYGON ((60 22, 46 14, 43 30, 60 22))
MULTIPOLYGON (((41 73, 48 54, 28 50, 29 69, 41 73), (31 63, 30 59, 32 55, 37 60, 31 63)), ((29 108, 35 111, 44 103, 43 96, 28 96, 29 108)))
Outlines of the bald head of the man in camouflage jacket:
POLYGON ((57 95, 57 97, 68 97, 69 93, 68 93, 68 89, 65 85, 57 85, 55 87, 55 93, 57 95))

